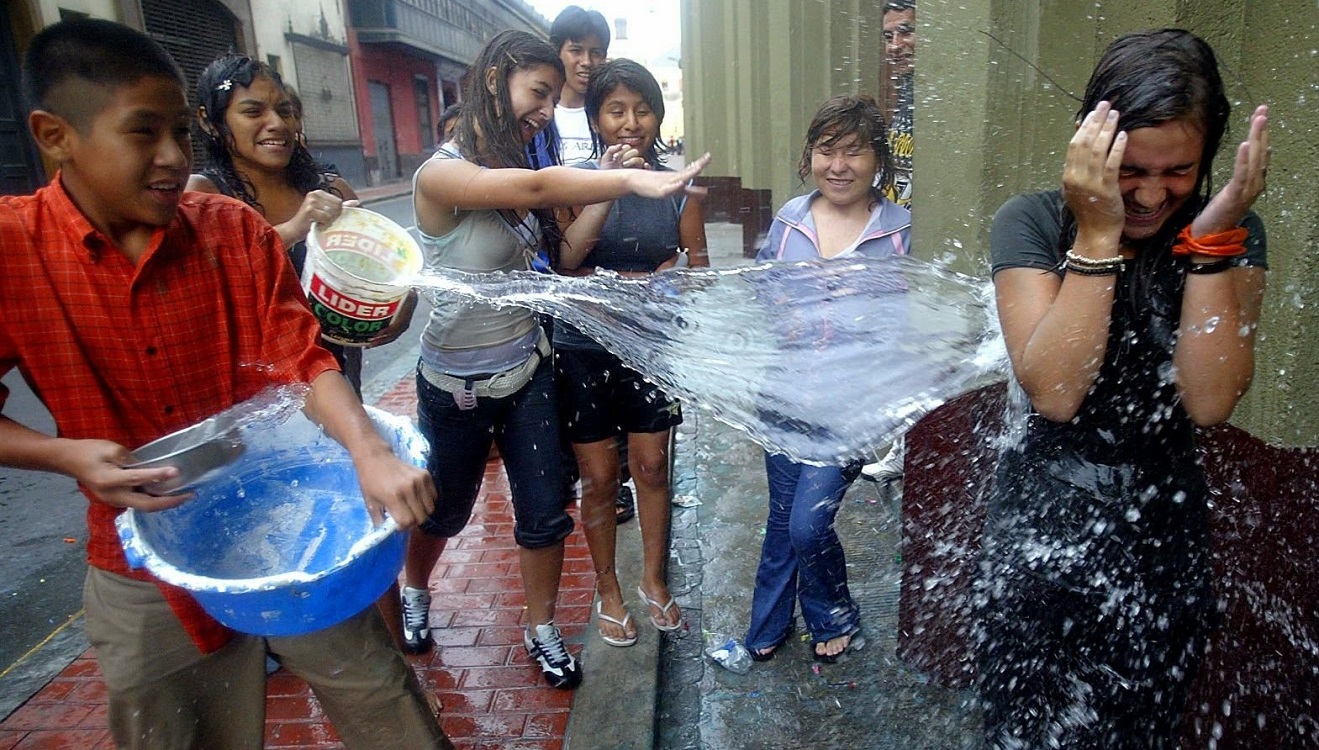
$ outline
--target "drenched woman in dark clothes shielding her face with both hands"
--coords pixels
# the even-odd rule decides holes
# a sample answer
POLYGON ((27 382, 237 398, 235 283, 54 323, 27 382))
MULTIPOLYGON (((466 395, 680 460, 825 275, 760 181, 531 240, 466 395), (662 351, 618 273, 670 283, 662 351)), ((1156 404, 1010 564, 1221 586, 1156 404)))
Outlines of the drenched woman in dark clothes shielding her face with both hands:
POLYGON ((1269 161, 1228 123, 1217 62, 1183 30, 1115 41, 1062 190, 995 217, 993 282, 1024 438, 991 496, 977 593, 991 747, 1175 747, 1212 609, 1195 427, 1250 385, 1269 161))

